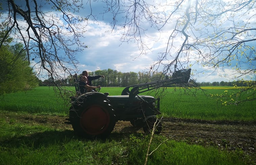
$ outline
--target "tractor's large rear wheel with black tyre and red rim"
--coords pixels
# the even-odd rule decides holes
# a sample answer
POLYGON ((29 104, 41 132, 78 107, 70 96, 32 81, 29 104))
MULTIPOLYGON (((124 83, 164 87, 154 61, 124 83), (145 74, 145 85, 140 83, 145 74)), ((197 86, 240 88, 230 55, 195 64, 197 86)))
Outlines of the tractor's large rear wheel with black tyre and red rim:
POLYGON ((113 107, 104 99, 89 99, 77 109, 70 109, 74 131, 86 138, 106 138, 114 129, 116 119, 113 107))

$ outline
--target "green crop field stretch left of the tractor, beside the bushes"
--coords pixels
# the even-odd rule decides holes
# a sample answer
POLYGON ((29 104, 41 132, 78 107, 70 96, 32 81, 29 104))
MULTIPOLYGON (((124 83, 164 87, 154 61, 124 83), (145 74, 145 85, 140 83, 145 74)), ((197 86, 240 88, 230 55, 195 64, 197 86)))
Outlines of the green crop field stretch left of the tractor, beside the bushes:
POLYGON ((68 108, 52 87, 37 87, 26 92, 4 95, 0 100, 2 110, 14 112, 66 115, 68 108))

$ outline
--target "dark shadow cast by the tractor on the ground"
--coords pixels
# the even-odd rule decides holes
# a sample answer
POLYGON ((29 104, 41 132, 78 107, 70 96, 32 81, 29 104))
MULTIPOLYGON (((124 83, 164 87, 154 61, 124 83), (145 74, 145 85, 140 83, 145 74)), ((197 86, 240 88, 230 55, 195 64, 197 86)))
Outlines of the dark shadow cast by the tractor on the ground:
POLYGON ((142 133, 139 133, 136 128, 129 126, 123 127, 120 130, 114 130, 107 138, 104 139, 86 139, 75 134, 73 130, 52 130, 37 132, 28 135, 14 135, 10 138, 0 139, 0 146, 6 148, 15 148, 20 146, 26 146, 29 148, 40 148, 42 146, 47 147, 56 144, 65 144, 72 140, 79 141, 93 141, 99 140, 103 143, 106 140, 122 141, 123 139, 130 138, 133 135, 135 137, 143 137, 142 133))

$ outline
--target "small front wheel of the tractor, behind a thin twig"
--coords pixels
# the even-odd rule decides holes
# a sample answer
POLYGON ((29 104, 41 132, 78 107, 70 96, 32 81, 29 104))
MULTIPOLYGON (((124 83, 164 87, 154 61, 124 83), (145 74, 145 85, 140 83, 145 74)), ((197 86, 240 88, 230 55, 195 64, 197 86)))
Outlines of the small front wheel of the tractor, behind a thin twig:
POLYGON ((162 123, 158 118, 150 117, 146 119, 143 126, 143 131, 145 133, 151 133, 155 125, 155 134, 160 134, 162 131, 162 123))

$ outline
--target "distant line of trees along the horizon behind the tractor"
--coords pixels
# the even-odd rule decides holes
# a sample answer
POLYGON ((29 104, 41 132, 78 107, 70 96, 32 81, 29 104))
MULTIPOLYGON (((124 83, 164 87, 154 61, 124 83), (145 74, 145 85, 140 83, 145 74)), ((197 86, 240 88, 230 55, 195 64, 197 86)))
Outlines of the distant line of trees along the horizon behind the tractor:
MULTIPOLYGON (((97 80, 92 81, 93 86, 100 85, 102 87, 126 87, 135 84, 141 84, 151 81, 157 81, 165 79, 166 77, 170 78, 171 76, 166 75, 165 77, 162 75, 162 72, 155 72, 153 74, 144 73, 144 72, 127 72, 122 73, 116 70, 108 69, 108 70, 98 70, 95 72, 89 72, 89 76, 98 76, 102 75, 105 78, 99 78, 97 80)), ((78 74, 78 77, 81 75, 78 74)), ((63 86, 74 86, 74 80, 72 76, 68 76, 66 78, 56 80, 56 84, 60 84, 63 86)), ((232 81, 232 82, 191 82, 196 83, 200 86, 246 86, 244 81, 232 81)), ((51 79, 47 79, 39 82, 39 86, 52 86, 53 82, 51 79)))

